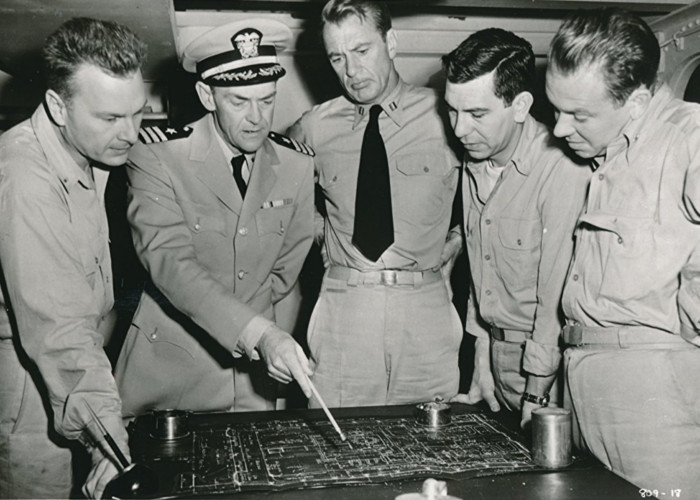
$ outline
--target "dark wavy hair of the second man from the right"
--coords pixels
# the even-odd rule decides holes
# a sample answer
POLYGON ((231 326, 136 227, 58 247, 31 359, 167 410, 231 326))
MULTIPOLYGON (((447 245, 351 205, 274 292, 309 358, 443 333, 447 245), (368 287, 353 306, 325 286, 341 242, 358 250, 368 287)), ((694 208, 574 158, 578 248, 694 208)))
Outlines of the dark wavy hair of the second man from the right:
POLYGON ((487 28, 470 35, 442 56, 447 81, 467 83, 494 72, 494 94, 506 106, 521 92, 532 92, 535 55, 532 45, 510 31, 487 28))

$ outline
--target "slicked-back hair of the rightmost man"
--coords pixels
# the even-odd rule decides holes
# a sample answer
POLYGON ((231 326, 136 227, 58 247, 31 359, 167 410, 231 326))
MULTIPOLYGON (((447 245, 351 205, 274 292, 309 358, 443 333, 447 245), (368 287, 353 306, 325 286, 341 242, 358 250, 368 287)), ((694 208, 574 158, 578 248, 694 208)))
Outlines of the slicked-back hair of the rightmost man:
POLYGON ((549 49, 549 65, 565 75, 601 68, 613 101, 622 105, 642 85, 652 89, 661 50, 651 28, 622 9, 580 10, 564 20, 549 49))

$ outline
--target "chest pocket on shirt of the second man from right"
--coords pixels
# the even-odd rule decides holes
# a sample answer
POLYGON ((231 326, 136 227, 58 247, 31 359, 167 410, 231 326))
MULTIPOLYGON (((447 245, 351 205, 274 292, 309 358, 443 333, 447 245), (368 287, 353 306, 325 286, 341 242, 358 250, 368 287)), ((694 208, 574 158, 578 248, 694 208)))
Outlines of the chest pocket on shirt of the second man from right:
POLYGON ((542 225, 539 220, 501 218, 498 222, 500 258, 496 265, 501 278, 511 287, 522 289, 537 284, 542 225))

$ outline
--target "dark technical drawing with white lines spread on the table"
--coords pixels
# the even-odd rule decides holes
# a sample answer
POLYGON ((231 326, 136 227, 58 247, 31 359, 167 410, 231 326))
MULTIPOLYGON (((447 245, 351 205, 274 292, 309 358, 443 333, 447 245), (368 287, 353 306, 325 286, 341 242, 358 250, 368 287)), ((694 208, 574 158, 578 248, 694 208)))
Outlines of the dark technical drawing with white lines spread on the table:
MULTIPOLYGON (((486 415, 431 429, 415 418, 229 424, 193 432, 177 495, 322 487, 535 470, 530 453, 486 415)), ((184 457, 183 457, 184 458, 184 457)))

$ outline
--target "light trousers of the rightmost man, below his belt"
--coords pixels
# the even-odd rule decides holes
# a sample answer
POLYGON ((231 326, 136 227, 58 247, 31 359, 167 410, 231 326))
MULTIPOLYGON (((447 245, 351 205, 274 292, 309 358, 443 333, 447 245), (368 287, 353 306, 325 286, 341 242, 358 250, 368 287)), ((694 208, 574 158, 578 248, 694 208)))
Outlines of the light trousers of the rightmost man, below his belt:
POLYGON ((700 349, 589 345, 567 349, 564 363, 578 444, 659 498, 698 498, 700 349))

